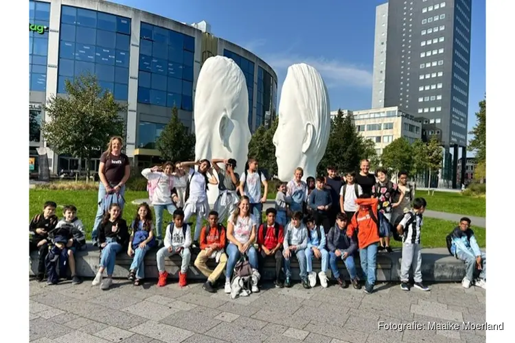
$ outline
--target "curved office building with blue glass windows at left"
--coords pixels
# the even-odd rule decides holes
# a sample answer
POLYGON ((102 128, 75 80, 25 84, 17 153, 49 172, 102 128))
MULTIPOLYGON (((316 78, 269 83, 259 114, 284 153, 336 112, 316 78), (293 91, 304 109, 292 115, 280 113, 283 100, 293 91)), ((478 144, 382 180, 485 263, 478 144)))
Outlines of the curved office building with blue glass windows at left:
MULTIPOLYGON (((251 132, 274 119, 277 75, 250 51, 210 33, 205 21, 193 25, 101 0, 30 1, 30 157, 46 147, 39 123, 42 105, 65 94, 65 80, 85 71, 128 106, 125 152, 135 165, 159 155, 155 141, 171 117, 193 128, 196 80, 211 56, 232 58, 247 78, 251 132)), ((51 148, 51 147, 49 147, 51 148)), ((48 154, 51 173, 76 170, 73 156, 48 154)), ((100 154, 99 154, 100 157, 100 154)), ((81 169, 85 165, 82 162, 81 169)), ((91 170, 98 169, 98 158, 91 170)))

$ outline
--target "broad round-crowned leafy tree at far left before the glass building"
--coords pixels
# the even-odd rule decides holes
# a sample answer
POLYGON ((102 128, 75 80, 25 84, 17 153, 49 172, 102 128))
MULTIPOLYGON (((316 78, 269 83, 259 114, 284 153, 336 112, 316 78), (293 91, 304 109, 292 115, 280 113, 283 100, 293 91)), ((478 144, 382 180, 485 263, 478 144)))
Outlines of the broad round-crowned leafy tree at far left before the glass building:
POLYGON ((41 130, 48 145, 58 154, 85 158, 89 176, 89 161, 103 150, 111 136, 124 135, 126 110, 115 102, 113 94, 104 91, 91 73, 80 75, 73 82, 65 81, 67 97, 52 95, 43 106, 50 120, 41 130))

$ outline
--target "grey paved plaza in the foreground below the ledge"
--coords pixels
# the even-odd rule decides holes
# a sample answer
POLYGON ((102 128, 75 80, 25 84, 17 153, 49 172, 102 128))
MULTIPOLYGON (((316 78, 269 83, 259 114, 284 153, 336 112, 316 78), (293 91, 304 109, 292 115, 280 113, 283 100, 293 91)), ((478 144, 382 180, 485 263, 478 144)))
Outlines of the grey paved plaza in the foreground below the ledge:
MULTIPOLYGON (((269 286, 270 287, 270 286, 269 286)), ((181 289, 155 282, 135 287, 115 280, 108 291, 69 281, 60 285, 30 281, 30 340, 33 343, 158 342, 485 342, 485 331, 462 322, 485 322, 485 291, 459 283, 430 285, 431 292, 404 292, 380 284, 362 290, 264 287, 231 300, 201 283, 181 289), (378 323, 418 322, 425 329, 394 331, 378 323), (428 323, 458 323, 457 330, 429 329, 428 323)))

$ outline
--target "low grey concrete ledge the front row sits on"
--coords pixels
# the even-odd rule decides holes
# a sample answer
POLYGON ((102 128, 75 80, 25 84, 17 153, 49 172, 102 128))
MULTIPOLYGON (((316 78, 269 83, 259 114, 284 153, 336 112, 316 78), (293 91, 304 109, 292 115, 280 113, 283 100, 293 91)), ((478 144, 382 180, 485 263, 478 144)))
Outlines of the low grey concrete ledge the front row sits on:
MULTIPOLYGON (((93 278, 95 272, 99 268, 100 251, 88 244, 87 250, 76 253, 77 274, 82 277, 93 278)), ((157 263, 156 252, 154 248, 149 250, 145 256, 145 276, 146 279, 157 279, 157 263)), ((205 276, 198 271, 193 265, 196 258, 196 252, 192 253, 192 261, 188 269, 187 276, 190 280, 204 281, 205 276)), ((30 263, 30 275, 37 272, 38 252, 32 252, 30 263)), ((361 275, 359 258, 355 259, 358 275, 361 275)), ((378 253, 377 257, 377 281, 399 281, 400 275, 400 250, 394 250, 391 254, 385 252, 378 253)), ((128 269, 132 259, 128 257, 126 252, 121 252, 116 259, 115 278, 126 278, 128 269)), ((273 280, 275 276, 275 261, 267 259, 263 278, 265 280, 273 280)), ((214 261, 210 260, 208 265, 211 268, 216 266, 214 261)), ((295 258, 292 261, 292 279, 299 280, 299 267, 295 258)), ((181 258, 173 256, 165 259, 165 268, 170 273, 170 278, 179 279, 179 270, 181 267, 181 258)), ((347 270, 342 262, 339 262, 339 268, 343 277, 348 278, 347 270)), ((320 262, 313 261, 313 270, 320 270, 320 262)), ((328 273, 330 274, 330 272, 328 273)), ((461 281, 465 275, 465 265, 455 257, 448 254, 446 248, 422 249, 422 276, 424 281, 461 281)), ((330 275, 328 275, 330 276, 330 275)))

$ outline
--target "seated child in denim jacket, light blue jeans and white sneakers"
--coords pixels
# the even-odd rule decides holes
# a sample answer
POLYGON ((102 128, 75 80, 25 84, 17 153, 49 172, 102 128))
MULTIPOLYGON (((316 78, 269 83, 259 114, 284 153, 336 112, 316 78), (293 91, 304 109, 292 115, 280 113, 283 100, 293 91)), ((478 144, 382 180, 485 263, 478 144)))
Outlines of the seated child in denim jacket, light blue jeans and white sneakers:
POLYGON ((325 250, 325 230, 323 227, 314 224, 313 217, 304 217, 304 224, 308 228, 308 247, 304 250, 306 254, 306 272, 310 287, 317 285, 317 273, 313 272, 313 257, 321 259, 321 272, 319 272, 320 285, 328 287, 328 276, 325 274, 329 268, 328 250, 325 250))

